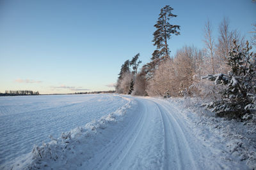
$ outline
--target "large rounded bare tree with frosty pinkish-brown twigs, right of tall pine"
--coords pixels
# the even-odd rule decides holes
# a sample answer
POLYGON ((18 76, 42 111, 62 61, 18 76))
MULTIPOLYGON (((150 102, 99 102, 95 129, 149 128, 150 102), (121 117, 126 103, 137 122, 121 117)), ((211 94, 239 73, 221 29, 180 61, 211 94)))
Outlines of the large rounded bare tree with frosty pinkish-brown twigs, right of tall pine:
POLYGON ((194 46, 184 46, 177 51, 174 59, 166 59, 159 64, 153 78, 148 80, 149 96, 179 95, 180 83, 189 89, 195 74, 202 74, 203 53, 194 46))

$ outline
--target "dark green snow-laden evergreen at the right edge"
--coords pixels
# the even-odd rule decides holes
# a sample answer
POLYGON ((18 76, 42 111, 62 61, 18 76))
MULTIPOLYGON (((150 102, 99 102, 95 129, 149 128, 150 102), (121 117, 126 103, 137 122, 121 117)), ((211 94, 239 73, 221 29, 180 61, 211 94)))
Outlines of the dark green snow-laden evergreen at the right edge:
POLYGON ((228 53, 228 74, 215 74, 205 76, 215 84, 224 85, 221 99, 205 104, 208 109, 215 111, 218 116, 230 118, 252 118, 248 115, 255 114, 255 72, 256 54, 250 52, 252 46, 246 42, 246 47, 241 49, 234 40, 234 47, 228 53), (244 117, 246 115, 246 117, 244 117))

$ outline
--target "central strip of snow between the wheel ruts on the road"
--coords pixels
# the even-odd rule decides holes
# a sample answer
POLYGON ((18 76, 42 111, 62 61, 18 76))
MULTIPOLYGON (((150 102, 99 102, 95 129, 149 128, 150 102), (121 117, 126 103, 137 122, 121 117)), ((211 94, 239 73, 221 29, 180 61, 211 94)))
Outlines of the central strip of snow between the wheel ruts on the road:
MULTIPOLYGON (((152 101, 135 98, 139 104, 138 114, 143 114, 141 129, 117 169, 162 169, 163 125, 152 101), (153 107, 152 107, 153 106, 153 107), (143 109, 141 109, 143 108, 143 109), (124 166, 127 165, 127 166, 124 166)), ((136 129, 135 129, 136 132, 136 129)))

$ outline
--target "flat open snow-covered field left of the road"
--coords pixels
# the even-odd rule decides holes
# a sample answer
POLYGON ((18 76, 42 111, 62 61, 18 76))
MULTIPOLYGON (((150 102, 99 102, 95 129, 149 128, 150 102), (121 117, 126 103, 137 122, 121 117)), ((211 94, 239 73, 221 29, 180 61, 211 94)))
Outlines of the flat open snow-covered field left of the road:
POLYGON ((61 132, 109 114, 127 100, 105 94, 0 97, 0 164, 61 132))

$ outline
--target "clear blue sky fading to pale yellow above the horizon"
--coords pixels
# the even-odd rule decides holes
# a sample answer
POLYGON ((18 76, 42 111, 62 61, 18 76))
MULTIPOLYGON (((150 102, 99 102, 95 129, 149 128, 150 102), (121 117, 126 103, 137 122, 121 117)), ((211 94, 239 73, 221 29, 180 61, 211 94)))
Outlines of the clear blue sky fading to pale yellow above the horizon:
POLYGON ((256 22, 251 0, 200 1, 0 1, 0 92, 41 94, 112 90, 120 66, 155 50, 153 32, 166 4, 178 15, 180 36, 169 41, 172 55, 183 45, 203 48, 209 18, 215 38, 223 17, 246 38, 256 22))

